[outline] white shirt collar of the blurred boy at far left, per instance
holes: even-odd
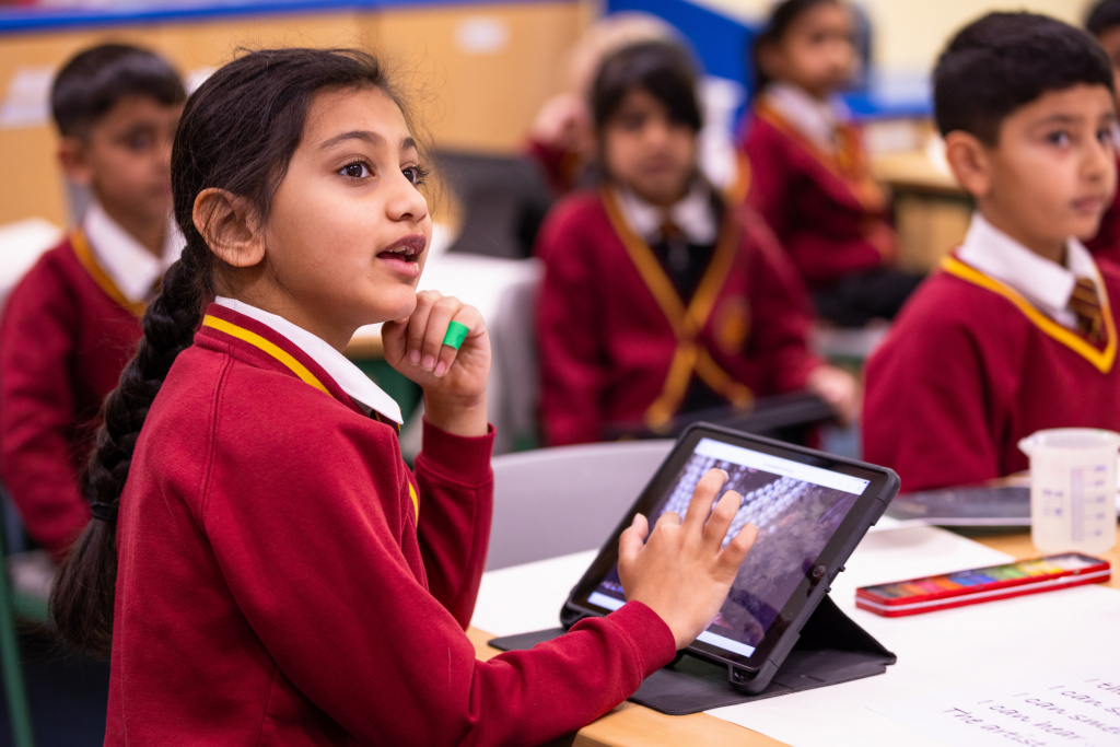
[[[90,203],[82,218],[82,230],[90,241],[90,249],[96,256],[97,264],[124,298],[133,304],[149,300],[152,286],[183,253],[186,239],[179,226],[170,216],[167,225],[164,252],[157,258],[120,223],[109,217],[109,213],[97,200]]]

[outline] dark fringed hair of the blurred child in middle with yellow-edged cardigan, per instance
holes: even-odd
[[[603,130],[631,91],[641,88],[669,110],[672,122],[699,132],[697,72],[689,53],[672,41],[640,41],[607,55],[591,85],[595,129]]]

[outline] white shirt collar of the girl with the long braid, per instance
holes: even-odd
[[[237,314],[256,319],[277,334],[287,338],[292,345],[304,351],[311,360],[323,366],[344,392],[357,402],[366,412],[376,410],[390,420],[403,423],[401,408],[389,394],[362,373],[349,358],[330,347],[321,337],[317,337],[302,327],[298,327],[281,316],[271,314],[244,301],[218,296],[215,304],[233,309]]]

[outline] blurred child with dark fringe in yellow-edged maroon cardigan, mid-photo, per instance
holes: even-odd
[[[552,445],[810,389],[852,414],[857,385],[805,346],[804,289],[762,221],[699,175],[687,54],[608,56],[592,92],[606,179],[538,237],[541,422]]]

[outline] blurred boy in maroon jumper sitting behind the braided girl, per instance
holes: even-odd
[[[186,94],[155,54],[103,45],[52,90],[66,175],[93,192],[82,224],[31,268],[0,323],[0,475],[28,533],[56,558],[90,520],[77,473],[101,402],[174,262],[169,158]]]

